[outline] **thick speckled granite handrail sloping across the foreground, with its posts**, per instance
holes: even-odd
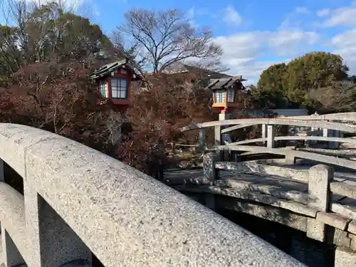
[[[152,177],[65,137],[0,124],[0,157],[23,177],[24,192],[0,183],[6,266],[90,266],[91,253],[110,267],[303,266]]]

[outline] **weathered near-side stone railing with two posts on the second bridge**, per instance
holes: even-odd
[[[243,179],[237,179],[232,183],[234,186],[230,190],[229,187],[226,187],[229,184],[229,182],[226,184],[226,177],[220,179],[218,172],[216,172],[217,169],[257,174],[261,176],[261,180],[259,183],[253,184],[251,182],[246,183]],[[216,152],[210,152],[204,155],[203,171],[204,180],[211,185],[211,188],[206,186],[202,188],[208,189],[208,191],[211,189],[214,194],[261,202],[308,216],[307,224],[297,225],[299,227],[297,229],[305,231],[307,236],[312,239],[326,240],[327,229],[325,225],[343,231],[346,236],[356,234],[355,206],[333,201],[333,194],[339,195],[339,199],[343,199],[343,197],[355,199],[356,187],[347,182],[340,182],[340,179],[334,179],[332,167],[319,164],[311,167],[308,172],[300,172],[288,167],[263,166],[257,164],[257,162],[219,162],[219,155]],[[308,192],[297,192],[288,189],[288,187],[278,189],[276,184],[263,184],[263,177],[268,177],[268,175],[301,181],[303,184],[308,184]],[[227,179],[229,180],[229,178]],[[220,188],[220,185],[223,187]],[[349,236],[346,240],[350,243]],[[351,243],[349,246],[351,246]],[[356,250],[356,246],[352,245],[352,248]]]

